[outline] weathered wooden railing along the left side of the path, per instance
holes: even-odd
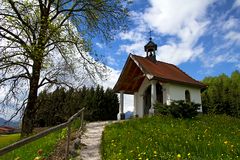
[[[30,142],[33,142],[33,141],[36,141],[37,139],[39,138],[42,138],[52,132],[55,132],[57,130],[60,130],[62,128],[65,128],[67,127],[67,144],[66,144],[66,153],[65,153],[65,159],[68,158],[68,153],[69,153],[69,143],[70,143],[70,134],[71,134],[71,123],[73,122],[73,120],[75,120],[77,117],[79,117],[79,115],[81,114],[81,125],[80,125],[80,128],[79,128],[79,132],[82,130],[83,128],[83,119],[84,119],[84,109],[85,108],[82,108],[81,110],[79,110],[76,114],[74,114],[72,117],[70,117],[68,119],[67,122],[65,123],[62,123],[62,124],[59,124],[57,126],[54,126],[54,127],[51,127],[43,132],[40,132],[36,135],[33,135],[33,136],[30,136],[28,138],[25,138],[25,139],[22,139],[20,141],[17,141],[16,143],[13,143],[13,144],[10,144],[9,146],[6,146],[4,148],[1,148],[0,149],[0,156],[12,151],[12,150],[15,150],[19,147],[22,147]]]

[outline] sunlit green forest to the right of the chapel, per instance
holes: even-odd
[[[206,77],[207,89],[202,92],[203,112],[240,117],[240,73]]]

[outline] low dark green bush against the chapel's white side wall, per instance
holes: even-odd
[[[195,117],[198,112],[200,104],[191,102],[187,103],[184,100],[173,101],[170,105],[155,104],[155,110],[157,114],[172,115],[175,118],[192,118]]]

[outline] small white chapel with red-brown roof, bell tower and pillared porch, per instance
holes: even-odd
[[[118,119],[124,119],[124,94],[134,96],[134,116],[154,114],[154,104],[170,105],[173,100],[201,104],[201,90],[206,86],[177,66],[156,59],[157,44],[152,38],[144,46],[145,57],[129,54],[114,86],[120,93]],[[202,112],[200,107],[199,112]]]

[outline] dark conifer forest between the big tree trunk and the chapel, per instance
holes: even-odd
[[[85,107],[87,121],[115,120],[118,113],[118,97],[112,89],[97,87],[80,89],[57,88],[53,92],[42,91],[38,96],[35,127],[54,126],[67,121]]]

